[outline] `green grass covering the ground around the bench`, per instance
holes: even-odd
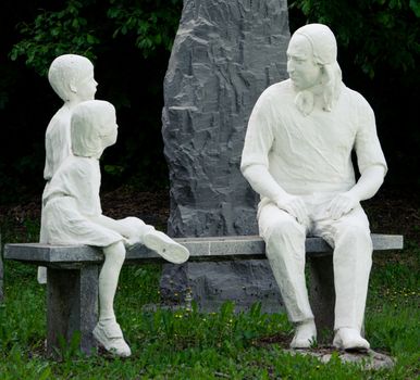
[[[4,228],[4,225],[3,225]],[[36,223],[4,241],[34,241]],[[262,314],[259,304],[235,314],[232,303],[218,313],[143,311],[159,302],[160,267],[125,266],[115,311],[133,356],[86,357],[76,341],[62,347],[62,360],[45,357],[46,290],[36,268],[7,262],[0,306],[0,379],[416,379],[419,377],[420,248],[374,255],[367,305],[367,338],[375,351],[396,358],[393,369],[363,371],[336,355],[328,364],[283,350],[292,333],[284,314]]]

